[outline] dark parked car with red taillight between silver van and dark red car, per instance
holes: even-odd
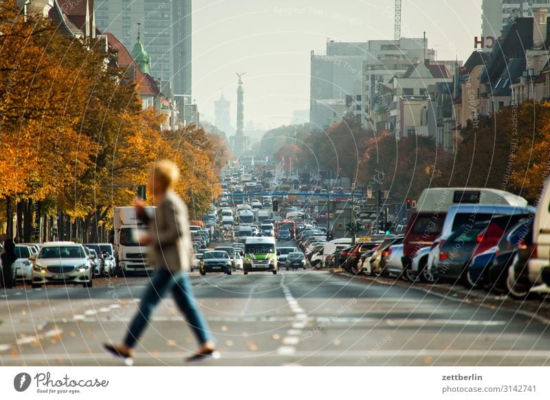
[[[472,285],[470,270],[467,265],[478,245],[478,238],[485,230],[489,221],[477,222],[473,225],[462,225],[440,245],[439,260],[436,261],[434,276],[440,281],[456,282]]]

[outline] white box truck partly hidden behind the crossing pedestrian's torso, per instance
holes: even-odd
[[[153,216],[154,207],[146,207],[145,212]],[[115,228],[114,247],[118,260],[118,272],[122,274],[151,271],[147,264],[147,247],[137,243],[140,231],[146,231],[146,225],[135,215],[133,207],[117,207],[113,210]]]

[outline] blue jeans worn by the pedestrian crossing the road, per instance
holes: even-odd
[[[130,348],[135,345],[149,322],[151,312],[167,291],[172,291],[177,307],[185,315],[199,343],[213,342],[208,324],[195,304],[188,276],[183,271],[172,273],[168,269],[159,269],[142,297],[140,309],[130,324],[124,344]]]

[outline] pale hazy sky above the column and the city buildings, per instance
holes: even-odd
[[[193,97],[213,118],[224,93],[236,120],[244,71],[245,121],[272,128],[309,109],[309,56],[336,41],[393,39],[392,0],[193,1]],[[481,0],[403,0],[401,36],[421,37],[437,59],[465,60],[481,34]]]

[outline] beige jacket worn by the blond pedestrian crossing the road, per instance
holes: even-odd
[[[141,217],[141,216],[140,216]],[[187,206],[172,190],[155,208],[153,218],[147,221],[151,244],[148,247],[149,265],[172,272],[190,271],[192,241]]]

